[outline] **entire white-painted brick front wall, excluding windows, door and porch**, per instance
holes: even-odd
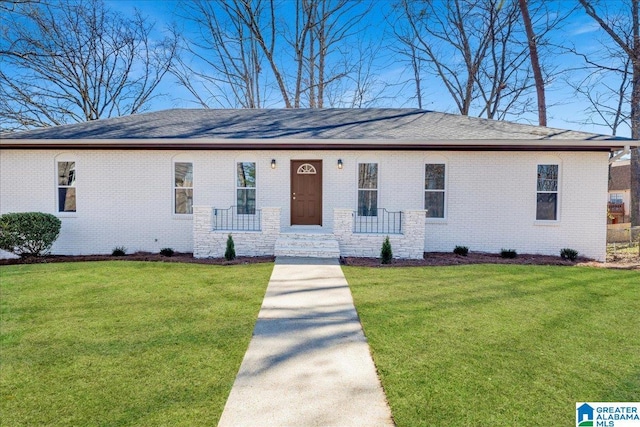
[[[607,153],[2,150],[0,212],[56,213],[61,155],[77,162],[78,212],[60,215],[54,253],[110,253],[116,246],[193,251],[192,216],[173,214],[174,161],[193,162],[194,205],[208,208],[236,204],[235,163],[255,161],[258,206],[281,208],[280,225],[288,227],[290,161],[322,159],[327,232],[334,228],[334,209],[356,207],[357,163],[379,164],[379,207],[408,211],[424,208],[425,162],[446,161],[447,218],[425,221],[425,251],[464,245],[556,255],[571,247],[596,259],[605,255]],[[560,220],[543,225],[535,221],[536,165],[554,161],[561,165]],[[379,255],[378,240],[372,256]]]

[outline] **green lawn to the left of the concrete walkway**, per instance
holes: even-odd
[[[0,267],[0,424],[216,425],[272,268]]]

